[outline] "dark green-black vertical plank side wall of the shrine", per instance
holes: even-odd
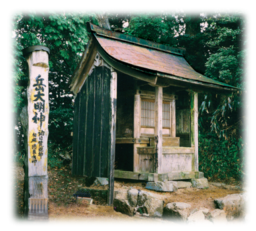
[[[75,98],[74,175],[108,177],[111,155],[111,72],[95,67]]]

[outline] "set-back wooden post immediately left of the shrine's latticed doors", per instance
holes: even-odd
[[[133,137],[140,139],[140,94],[134,95],[134,129]],[[137,153],[137,147],[140,144],[133,145],[133,171],[140,171],[140,157]]]

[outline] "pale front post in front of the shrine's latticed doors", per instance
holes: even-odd
[[[155,137],[157,137],[157,168],[156,173],[162,173],[163,147],[163,87],[155,87]]]

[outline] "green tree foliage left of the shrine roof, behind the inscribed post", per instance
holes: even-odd
[[[22,147],[22,128],[17,122],[22,108],[21,90],[28,85],[28,70],[22,49],[42,45],[50,49],[49,137],[54,149],[72,143],[73,94],[68,83],[89,39],[86,22],[97,24],[93,8],[22,7],[7,11],[7,112],[17,112],[17,149]],[[15,37],[13,37],[13,34]]]

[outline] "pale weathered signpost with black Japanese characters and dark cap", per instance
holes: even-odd
[[[24,160],[24,217],[27,220],[48,220],[48,53],[44,46],[23,50],[29,70],[28,106],[23,110],[27,121]],[[26,107],[25,107],[26,108]]]

